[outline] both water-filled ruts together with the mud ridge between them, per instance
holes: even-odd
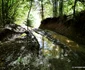
[[[38,31],[38,30],[37,30]],[[39,41],[44,56],[62,58],[70,52],[76,52],[79,45],[65,36],[52,31],[38,31],[34,33]]]

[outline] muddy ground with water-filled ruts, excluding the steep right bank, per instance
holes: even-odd
[[[0,70],[72,70],[85,65],[85,45],[58,33],[19,26],[15,32],[3,30],[1,36],[4,31],[10,35],[0,41]]]

